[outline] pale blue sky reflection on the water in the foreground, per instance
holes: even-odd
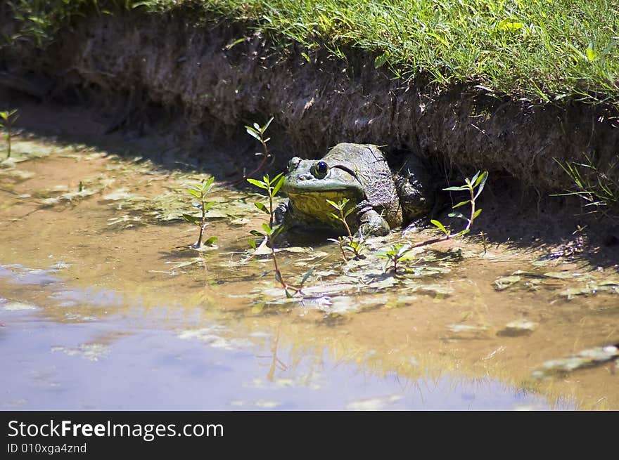
[[[1,306],[0,306],[1,308]],[[3,312],[1,409],[569,409],[492,379],[365,374],[328,353],[122,317],[54,324]],[[118,334],[118,330],[124,330]],[[267,352],[267,353],[265,353]]]

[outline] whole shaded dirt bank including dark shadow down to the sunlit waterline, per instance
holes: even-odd
[[[11,28],[5,19],[3,32]],[[271,116],[272,173],[293,156],[321,157],[339,142],[384,145],[393,163],[417,155],[438,183],[487,170],[476,223],[491,242],[563,244],[572,248],[566,254],[596,253],[606,261],[596,263],[617,260],[616,218],[585,215],[577,197],[551,196],[573,188],[557,160],[587,155],[601,171],[617,161],[613,109],[577,101],[532,106],[475,84],[438,88],[394,79],[355,48],[346,55],[318,51],[308,62],[295,45],[275,48],[246,24],[193,25],[182,12],[91,15],[45,51],[27,41],[0,48],[0,85],[11,91],[3,106],[20,108],[13,101],[27,93],[32,107],[34,100],[42,107],[88,107],[98,124],[84,125],[83,140],[148,138],[158,152],[197,159],[188,162],[218,180],[234,182],[243,167],[258,164],[259,146],[243,126]],[[60,133],[34,119],[23,117],[18,126]],[[79,127],[74,131],[79,137]]]

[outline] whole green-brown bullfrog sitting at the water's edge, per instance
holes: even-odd
[[[326,202],[349,200],[346,209],[351,232],[363,236],[387,235],[411,219],[428,214],[423,179],[426,171],[414,160],[393,173],[383,152],[370,144],[340,143],[318,160],[294,157],[281,187],[288,202],[276,210],[276,221],[286,228],[300,226],[346,231]]]

